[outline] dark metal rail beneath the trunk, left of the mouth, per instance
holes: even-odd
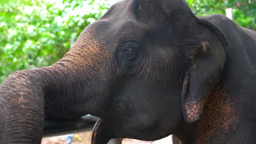
[[[91,131],[97,122],[97,117],[84,116],[78,119],[45,120],[43,137],[52,137],[83,131]]]

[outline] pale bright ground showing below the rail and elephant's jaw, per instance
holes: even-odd
[[[42,140],[42,144],[66,144],[65,136],[56,136],[45,138]],[[90,144],[91,143],[91,131],[74,134],[73,135],[72,144]],[[123,139],[122,144],[172,144],[171,136],[168,136],[164,139],[158,141],[139,141],[139,140],[131,140],[131,139]]]

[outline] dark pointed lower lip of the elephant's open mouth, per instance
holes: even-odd
[[[106,144],[113,138],[111,134],[113,131],[109,129],[108,125],[102,119],[98,119],[97,123],[92,130],[92,144]]]

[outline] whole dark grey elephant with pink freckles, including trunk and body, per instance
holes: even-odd
[[[254,143],[255,96],[255,31],[183,0],[124,0],[55,64],[3,81],[0,143],[40,143],[45,119],[87,114],[93,144]]]

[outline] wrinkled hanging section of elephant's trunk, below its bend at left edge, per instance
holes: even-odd
[[[44,90],[34,70],[9,75],[0,87],[0,143],[40,143]]]

